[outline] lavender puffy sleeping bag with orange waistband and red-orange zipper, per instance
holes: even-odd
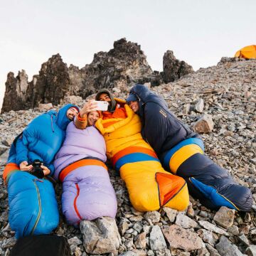
[[[95,127],[77,129],[73,122],[68,124],[65,142],[55,156],[54,177],[63,181],[63,214],[72,225],[102,216],[114,218],[117,213],[105,153],[105,140]]]

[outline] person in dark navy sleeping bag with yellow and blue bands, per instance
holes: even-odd
[[[174,117],[162,97],[145,85],[134,85],[127,104],[142,119],[142,136],[156,151],[164,168],[185,178],[191,196],[210,209],[251,209],[250,189],[235,183],[228,171],[203,154],[202,139]]]

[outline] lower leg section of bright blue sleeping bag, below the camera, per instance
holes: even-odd
[[[57,228],[58,204],[50,181],[13,171],[7,182],[9,223],[16,238],[49,234]]]

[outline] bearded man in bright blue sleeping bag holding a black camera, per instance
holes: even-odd
[[[3,176],[9,196],[9,223],[17,238],[48,234],[58,226],[55,191],[44,176],[53,174],[54,156],[78,110],[69,104],[58,112],[41,114],[11,145]],[[32,165],[35,160],[38,160],[37,173]]]

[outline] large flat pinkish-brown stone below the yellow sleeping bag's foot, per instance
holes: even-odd
[[[163,228],[162,231],[164,233],[164,237],[172,248],[191,251],[198,250],[203,247],[203,241],[196,233],[181,228],[178,225],[171,225]]]

